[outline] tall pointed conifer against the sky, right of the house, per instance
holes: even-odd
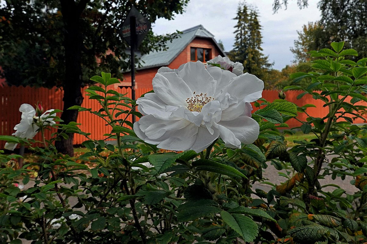
[[[234,62],[243,63],[244,72],[254,74],[264,79],[266,71],[272,66],[268,56],[262,53],[261,25],[258,21],[258,11],[246,5],[239,4],[237,8],[235,26],[235,47],[229,53],[229,58]]]

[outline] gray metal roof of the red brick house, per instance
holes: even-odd
[[[219,47],[217,41],[214,39],[214,35],[211,34],[208,30],[206,30],[202,25],[197,25],[191,27],[187,30],[183,30],[182,34],[172,40],[172,42],[168,41],[166,43],[167,50],[166,51],[153,51],[148,54],[141,56],[140,64],[137,70],[143,70],[158,66],[167,66],[172,63],[172,61],[190,44],[192,40],[196,37],[203,37],[211,39],[218,50],[221,52],[222,56],[226,56],[225,52]]]

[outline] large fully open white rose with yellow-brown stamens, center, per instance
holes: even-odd
[[[221,137],[230,148],[251,144],[259,124],[250,102],[261,97],[264,82],[255,75],[236,74],[200,61],[177,70],[162,67],[153,78],[155,93],[137,100],[144,115],[134,123],[139,138],[158,148],[201,152]]]

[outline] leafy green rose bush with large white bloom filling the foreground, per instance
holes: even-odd
[[[299,88],[297,81],[305,77],[312,80],[299,97],[323,100],[329,113],[306,121],[297,115],[307,115],[312,104],[255,101],[262,81],[216,66],[162,68],[154,93],[137,102],[108,89],[119,82],[110,74],[92,77],[96,85],[87,89],[88,96],[101,109],[70,109],[101,117],[111,127],[106,138],[116,145],[92,140],[76,123],[51,125],[60,131],[45,138],[43,148],[33,139],[0,136],[37,155],[19,169],[19,155],[0,152],[0,243],[363,243],[367,128],[352,123],[353,117],[364,118],[367,108],[360,104],[367,101],[367,59],[346,59],[356,52],[342,50],[342,42],[332,47],[313,52],[320,58],[313,62],[315,71],[292,75],[294,86],[285,88]],[[252,114],[251,101],[258,107]],[[128,121],[132,114],[141,117],[135,125]],[[284,130],[291,118],[302,126]],[[41,132],[46,129],[39,125]],[[297,129],[316,138],[288,148],[284,134]],[[89,151],[78,158],[58,154],[53,142],[64,132],[85,136]],[[337,156],[328,160],[330,155]],[[86,159],[96,166],[76,163]],[[264,178],[266,167],[283,170],[287,181],[275,185],[273,175]],[[330,175],[354,177],[356,192],[322,186],[319,179]],[[254,189],[261,184],[271,189]]]

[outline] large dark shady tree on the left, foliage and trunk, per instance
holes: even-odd
[[[81,87],[101,71],[122,78],[130,52],[119,30],[131,6],[150,22],[171,19],[188,0],[6,0],[0,5],[0,66],[8,84],[62,87],[64,123],[76,121]],[[175,37],[149,32],[139,51],[164,49]],[[60,152],[73,155],[73,134],[58,141]]]

